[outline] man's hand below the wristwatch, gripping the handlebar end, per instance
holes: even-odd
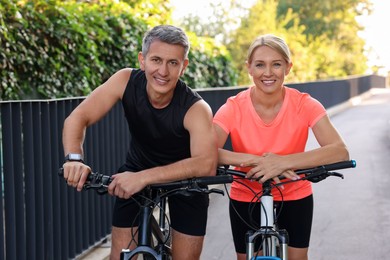
[[[69,161],[63,164],[64,179],[69,186],[72,186],[81,191],[88,175],[91,173],[91,168],[82,162]]]

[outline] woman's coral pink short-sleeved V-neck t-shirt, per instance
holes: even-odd
[[[309,128],[326,115],[326,110],[309,94],[289,87],[284,88],[286,91],[282,107],[269,124],[265,124],[256,113],[250,98],[251,88],[228,98],[220,107],[214,116],[214,123],[230,134],[233,151],[257,155],[266,152],[286,155],[305,150]],[[231,197],[238,201],[253,201],[254,193],[261,192],[261,184],[243,181],[252,190],[233,182]],[[272,194],[276,201],[297,200],[312,194],[312,187],[308,181],[299,181],[285,184],[280,191],[273,189]]]

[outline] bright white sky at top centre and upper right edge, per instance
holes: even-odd
[[[229,2],[230,0],[171,0],[174,6],[173,18],[185,16],[189,13],[199,16],[211,13],[210,2]],[[245,0],[246,3],[253,3],[254,0]],[[366,48],[369,51],[368,65],[383,66],[380,74],[387,75],[390,71],[390,1],[371,0],[373,12],[369,16],[359,17],[358,21],[365,27],[360,36],[366,40]]]

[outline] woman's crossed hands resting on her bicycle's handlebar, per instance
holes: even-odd
[[[279,183],[278,176],[280,175],[292,180],[299,179],[299,176],[294,171],[283,168],[282,158],[282,156],[277,154],[265,153],[262,156],[256,156],[242,163],[240,166],[251,167],[247,172],[247,178],[257,179],[260,182],[273,179]]]

